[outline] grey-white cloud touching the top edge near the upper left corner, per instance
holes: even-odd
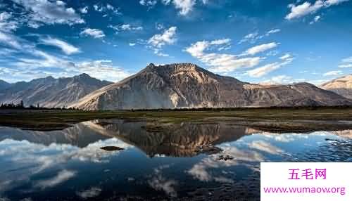
[[[25,15],[31,27],[39,27],[43,24],[82,24],[84,20],[73,8],[67,8],[63,1],[49,0],[12,0],[23,6],[27,12]]]

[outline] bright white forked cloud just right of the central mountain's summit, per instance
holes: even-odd
[[[210,70],[214,72],[232,72],[240,67],[253,67],[258,65],[261,58],[237,58],[237,56],[225,53],[206,53],[205,51],[211,50],[214,47],[221,50],[222,46],[229,46],[230,39],[220,39],[214,41],[198,41],[195,44],[191,44],[185,49],[191,56],[198,58],[201,62],[210,66]]]

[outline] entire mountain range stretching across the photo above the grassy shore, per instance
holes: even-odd
[[[191,63],[151,63],[117,83],[88,74],[0,82],[0,103],[23,100],[25,105],[82,110],[352,105],[351,80],[352,76],[334,79],[323,89],[306,82],[264,86],[213,74]]]

